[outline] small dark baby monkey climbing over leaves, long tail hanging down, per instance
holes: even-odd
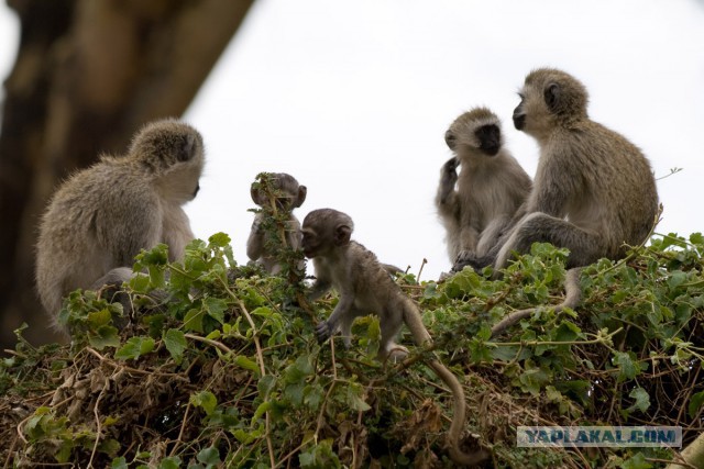
[[[328,339],[340,328],[349,347],[354,319],[376,313],[382,331],[380,358],[402,359],[408,350],[397,345],[394,338],[404,324],[410,330],[417,345],[432,339],[416,304],[400,291],[376,256],[350,239],[353,228],[349,215],[332,209],[315,210],[304,220],[302,249],[306,257],[312,259],[317,277],[310,299],[319,298],[330,287],[334,287],[340,294],[328,321],[316,328],[318,340]],[[481,449],[466,454],[459,447],[466,406],[462,386],[440,361],[431,360],[430,366],[454,398],[454,415],[448,433],[450,456],[458,464],[476,465],[487,454]]]

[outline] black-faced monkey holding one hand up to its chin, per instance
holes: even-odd
[[[450,260],[455,263],[494,247],[528,197],[531,181],[504,147],[501,121],[486,108],[455,119],[444,141],[454,157],[440,171],[436,206],[447,231]]]

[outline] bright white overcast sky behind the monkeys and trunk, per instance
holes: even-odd
[[[0,12],[0,72],[16,25]],[[14,34],[11,36],[10,32]],[[330,206],[386,263],[435,279],[450,260],[433,197],[450,157],[443,135],[484,104],[529,175],[537,146],[514,130],[530,69],[581,79],[591,116],[644,149],[664,220],[658,232],[704,231],[704,2],[695,0],[258,0],[186,114],[208,163],[187,206],[194,231],[223,231],[245,263],[260,171],[308,187],[297,210]]]

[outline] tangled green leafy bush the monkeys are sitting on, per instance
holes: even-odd
[[[128,301],[69,295],[68,346],[33,348],[18,331],[0,365],[0,460],[14,467],[451,467],[451,395],[410,344],[375,360],[378,322],[354,346],[319,345],[302,283],[238,266],[230,239],[195,241],[183,263],[143,252]],[[654,236],[627,260],[581,276],[582,304],[556,313],[566,252],[535,245],[502,280],[470,269],[444,282],[397,278],[420,304],[435,353],[468,397],[465,449],[496,467],[658,467],[669,449],[517,448],[518,425],[681,425],[704,411],[700,234]],[[131,304],[123,312],[122,304]],[[491,337],[505,314],[536,313]],[[416,353],[413,353],[416,350]]]

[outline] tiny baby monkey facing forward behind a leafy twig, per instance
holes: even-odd
[[[254,223],[252,223],[250,237],[246,242],[246,255],[253,261],[261,264],[267,272],[277,275],[280,273],[282,266],[276,254],[277,249],[283,247],[283,241],[274,238],[272,232],[267,233],[263,222],[267,216],[273,216],[273,205],[277,211],[286,213],[288,215],[285,230],[286,245],[290,249],[300,248],[300,223],[294,215],[294,209],[305,202],[308,189],[306,186],[299,185],[296,178],[284,172],[264,174],[263,176],[262,182],[252,183],[250,190],[252,200],[263,210],[254,216]],[[266,181],[271,181],[273,185],[271,188],[273,190],[270,192],[273,194],[271,200],[266,191],[260,187]],[[305,264],[299,267],[304,270]]]

